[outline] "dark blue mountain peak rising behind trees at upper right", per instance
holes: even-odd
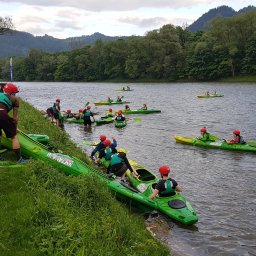
[[[232,17],[241,13],[255,10],[255,9],[256,7],[250,5],[236,12],[231,7],[223,5],[223,6],[211,9],[207,13],[203,14],[199,19],[197,19],[194,23],[188,26],[188,30],[190,31],[205,30],[207,29],[207,26],[210,23],[210,21],[217,16]]]

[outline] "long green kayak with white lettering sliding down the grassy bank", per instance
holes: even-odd
[[[113,177],[108,178],[100,170],[93,168],[80,159],[61,153],[54,153],[45,145],[31,139],[22,131],[18,131],[17,136],[21,145],[22,156],[46,161],[48,164],[51,164],[53,167],[68,175],[79,176],[95,174],[100,180],[105,182],[111,192],[114,193],[117,198],[122,199],[122,201],[125,199],[129,204],[134,205],[147,213],[156,209],[163,213],[166,212],[166,209],[162,209],[163,206],[161,204],[149,199],[143,193],[128,187],[126,184]],[[12,148],[11,139],[6,138],[4,133],[2,136],[2,145],[8,149]],[[169,215],[167,214],[167,216]]]

